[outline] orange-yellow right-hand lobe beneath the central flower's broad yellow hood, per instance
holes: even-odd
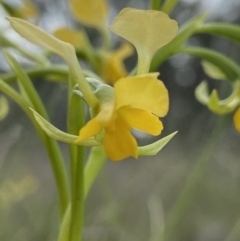
[[[162,122],[158,117],[148,111],[132,107],[123,107],[118,110],[118,113],[132,128],[151,135],[157,136],[163,129]]]

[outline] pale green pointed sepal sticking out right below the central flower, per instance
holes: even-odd
[[[154,156],[177,134],[177,131],[147,146],[138,147],[139,156]]]

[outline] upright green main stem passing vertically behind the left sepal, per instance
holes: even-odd
[[[77,135],[85,124],[84,102],[73,94],[74,81],[69,79],[68,90],[68,132]],[[84,157],[85,147],[69,145],[71,158],[71,216],[69,241],[82,240],[84,217]]]

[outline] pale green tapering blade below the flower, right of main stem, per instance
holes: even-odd
[[[88,192],[92,187],[97,175],[102,170],[107,157],[102,146],[92,147],[88,162],[84,170],[85,185],[84,185],[84,198],[87,198]]]

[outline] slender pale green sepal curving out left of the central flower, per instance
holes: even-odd
[[[63,132],[59,130],[57,127],[53,126],[51,123],[49,123],[46,119],[44,119],[41,115],[39,115],[36,111],[34,111],[32,108],[30,108],[33,112],[33,115],[40,125],[40,127],[45,131],[45,133],[50,136],[51,138],[57,140],[57,141],[63,141],[66,143],[75,143],[76,145],[82,145],[82,146],[99,146],[100,143],[97,142],[94,138],[89,138],[88,140],[81,141],[76,143],[76,139],[78,136],[71,135],[66,132]]]

